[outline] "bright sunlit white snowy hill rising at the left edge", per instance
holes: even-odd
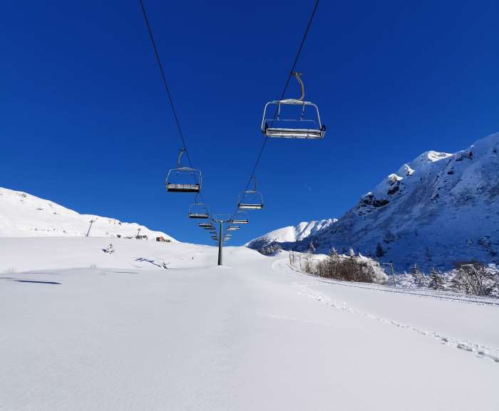
[[[148,239],[163,236],[176,241],[168,234],[152,231],[140,224],[79,214],[49,200],[0,187],[1,237],[85,236],[91,220],[90,236],[136,236],[140,229],[140,235],[146,235]]]

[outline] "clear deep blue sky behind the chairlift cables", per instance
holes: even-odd
[[[230,211],[313,1],[145,5],[205,199]],[[421,152],[499,131],[498,12],[497,1],[321,1],[297,68],[326,137],[269,140],[264,209],[232,244],[341,217]],[[0,25],[0,186],[209,243],[187,219],[193,196],[165,192],[180,142],[138,1],[9,2]]]

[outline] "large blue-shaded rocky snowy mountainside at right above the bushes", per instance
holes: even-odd
[[[499,262],[499,133],[455,154],[424,152],[335,224],[282,246],[306,251],[311,242],[319,252],[351,247],[398,270]]]

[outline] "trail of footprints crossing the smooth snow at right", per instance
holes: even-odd
[[[335,301],[332,301],[331,298],[328,296],[324,296],[324,294],[319,293],[319,291],[315,291],[312,288],[309,288],[305,286],[304,284],[300,283],[292,283],[292,286],[299,288],[298,294],[302,296],[307,296],[309,298],[312,298],[316,301],[321,301],[328,306],[334,307],[340,311],[344,311],[347,313],[354,313],[360,316],[364,316],[366,318],[371,318],[371,320],[376,320],[379,321],[380,323],[384,324],[390,324],[391,326],[396,326],[398,328],[403,328],[406,330],[413,331],[415,333],[418,333],[420,335],[427,335],[430,337],[435,338],[438,340],[440,343],[444,345],[448,345],[453,348],[458,348],[459,350],[467,351],[468,353],[474,353],[477,357],[479,358],[488,358],[489,360],[493,360],[495,363],[499,363],[499,349],[498,348],[491,348],[487,347],[485,345],[479,345],[477,343],[470,343],[469,341],[458,341],[458,340],[453,340],[451,338],[448,338],[446,336],[440,335],[439,333],[436,332],[428,332],[421,330],[420,328],[416,328],[413,326],[408,326],[406,324],[401,324],[397,323],[396,321],[389,320],[387,318],[382,318],[375,316],[374,314],[371,313],[363,313],[362,311],[356,310],[354,308],[351,308],[346,305],[346,303],[336,303]]]

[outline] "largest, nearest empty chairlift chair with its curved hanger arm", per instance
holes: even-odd
[[[293,76],[298,80],[301,95],[299,98],[269,101],[263,110],[262,132],[267,137],[321,139],[326,134],[326,126],[321,124],[319,108],[303,100],[302,73],[293,72]]]

